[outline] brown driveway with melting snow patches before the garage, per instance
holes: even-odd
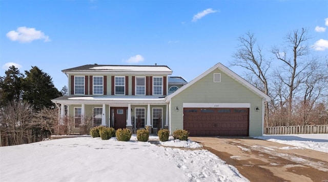
[[[328,154],[251,137],[190,137],[250,181],[328,181]]]

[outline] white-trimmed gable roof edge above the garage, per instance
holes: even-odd
[[[208,69],[207,71],[205,71],[202,74],[200,74],[199,76],[197,76],[195,79],[191,80],[191,82],[189,82],[187,85],[181,87],[180,89],[178,89],[174,93],[168,95],[166,97],[166,100],[167,101],[171,100],[172,97],[174,97],[175,95],[179,94],[183,90],[186,90],[188,87],[190,87],[191,85],[193,85],[194,83],[196,83],[199,79],[201,79],[202,77],[208,75],[209,73],[211,73],[215,69],[219,69],[222,72],[226,73],[227,75],[229,75],[230,77],[232,77],[233,79],[235,79],[237,82],[239,82],[240,84],[244,85],[245,87],[247,87],[248,89],[250,89],[251,91],[253,91],[254,93],[256,93],[257,95],[259,95],[260,97],[262,97],[264,99],[264,101],[268,102],[268,101],[271,100],[271,97],[269,97],[267,94],[264,94],[261,90],[259,90],[258,88],[256,88],[255,86],[253,86],[252,84],[250,84],[249,82],[247,82],[245,79],[243,79],[238,74],[236,74],[235,72],[231,71],[229,68],[227,68],[226,66],[222,65],[221,63],[217,63],[212,68]]]

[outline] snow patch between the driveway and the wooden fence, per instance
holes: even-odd
[[[254,138],[328,153],[328,134],[263,135]],[[282,149],[295,148],[285,147]]]

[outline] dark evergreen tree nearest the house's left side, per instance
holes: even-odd
[[[62,94],[54,87],[52,78],[36,66],[25,71],[25,74],[23,100],[32,104],[36,110],[54,106],[51,99]]]

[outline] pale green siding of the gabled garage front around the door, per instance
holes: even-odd
[[[221,82],[213,82],[213,74],[221,73]],[[214,70],[171,99],[171,131],[183,128],[183,103],[250,103],[250,136],[262,135],[262,98],[235,79]],[[179,111],[175,111],[178,107]],[[259,111],[255,111],[259,107]]]

